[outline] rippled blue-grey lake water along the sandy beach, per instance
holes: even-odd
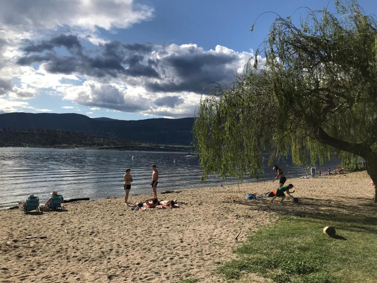
[[[0,206],[14,205],[29,194],[45,201],[51,191],[58,191],[67,199],[121,196],[124,195],[126,168],[131,168],[133,176],[130,194],[152,194],[149,183],[153,163],[159,171],[158,192],[224,184],[224,180],[216,176],[201,183],[198,159],[183,156],[175,152],[0,148]],[[334,158],[317,168],[335,168],[339,163],[340,159]],[[279,164],[287,178],[306,175],[305,166],[291,164],[291,160]],[[264,169],[259,180],[273,180],[276,171],[267,166],[267,160]],[[244,181],[256,180],[246,178]],[[276,185],[279,184],[271,183],[271,189]]]

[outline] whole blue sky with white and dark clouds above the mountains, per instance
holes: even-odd
[[[335,11],[322,0],[0,0],[0,114],[194,117],[211,82],[242,74],[276,14],[298,23],[326,6]]]

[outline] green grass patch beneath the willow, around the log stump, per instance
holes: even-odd
[[[251,235],[217,271],[227,279],[252,272],[276,282],[375,282],[377,278],[377,207],[368,215],[281,217]],[[336,227],[337,238],[323,234]]]

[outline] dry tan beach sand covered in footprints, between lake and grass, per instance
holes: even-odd
[[[278,185],[266,181],[158,194],[161,199],[177,198],[179,208],[173,209],[131,211],[124,198],[110,198],[66,203],[63,212],[0,211],[0,281],[224,281],[214,272],[216,262],[235,258],[232,249],[251,231],[282,214],[363,213],[368,207],[360,204],[373,195],[373,188],[366,186],[369,181],[366,172],[288,178],[300,198],[297,205],[289,197],[284,205],[279,199],[274,204],[271,198],[246,200],[248,193],[261,194]],[[129,201],[147,197],[130,196]],[[47,238],[13,241],[36,235]],[[255,275],[248,280],[270,281]]]

